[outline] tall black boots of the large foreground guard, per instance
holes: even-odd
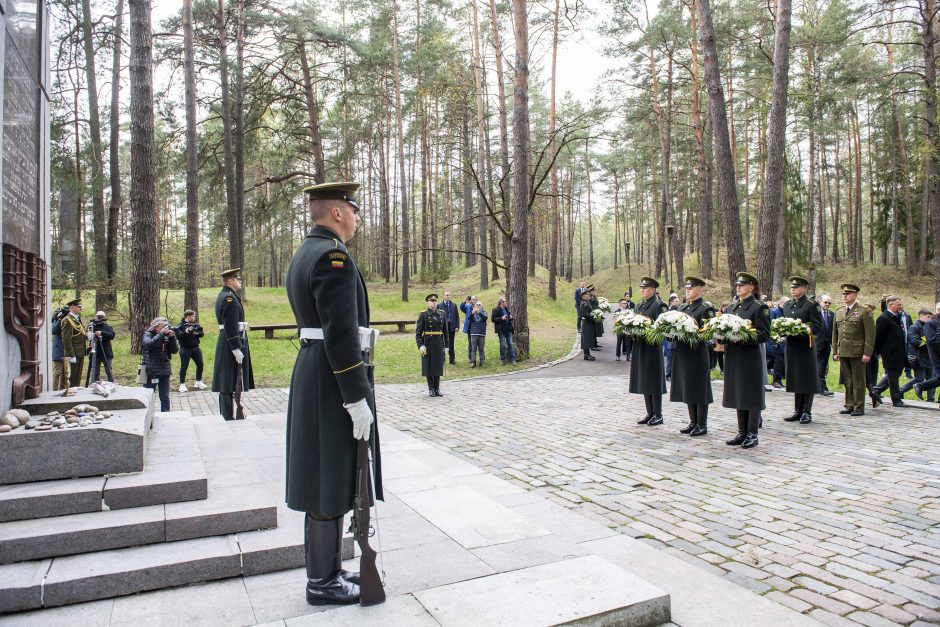
[[[307,603],[358,603],[359,585],[345,577],[342,569],[342,517],[334,520],[315,520],[308,514],[305,522]]]

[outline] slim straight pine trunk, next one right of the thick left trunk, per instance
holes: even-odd
[[[196,61],[193,40],[193,0],[183,0],[183,58],[186,98],[186,284],[183,306],[186,309],[198,311],[199,156],[196,145]]]

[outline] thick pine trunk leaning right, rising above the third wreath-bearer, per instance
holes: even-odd
[[[767,145],[767,178],[764,210],[757,248],[757,279],[772,294],[778,239],[782,240],[784,150],[787,132],[787,89],[790,70],[790,0],[777,0],[774,34],[773,95],[770,101],[770,139]]]

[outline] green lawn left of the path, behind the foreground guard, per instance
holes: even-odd
[[[424,309],[424,297],[428,292],[442,294],[446,287],[453,293],[453,300],[458,304],[467,294],[474,294],[484,303],[487,311],[496,305],[499,296],[505,294],[505,279],[492,281],[490,288],[480,291],[474,286],[479,285],[479,269],[470,268],[455,273],[443,285],[412,284],[410,301],[401,301],[400,284],[371,283],[369,289],[369,305],[373,320],[406,320],[417,319],[418,313]],[[568,354],[575,336],[575,316],[573,307],[574,286],[564,281],[558,284],[558,300],[553,301],[546,295],[548,293],[548,275],[543,268],[539,268],[535,278],[529,279],[529,327],[530,327],[530,357],[527,361],[513,366],[502,366],[499,363],[499,340],[493,330],[493,324],[487,324],[486,338],[486,365],[470,368],[467,361],[467,336],[457,333],[456,360],[457,365],[447,366],[445,380],[484,376],[513,369],[522,369],[546,363]],[[218,294],[216,288],[199,290],[200,321],[206,330],[202,340],[203,357],[205,358],[205,371],[203,381],[208,385],[212,381],[213,357],[215,343],[218,337],[218,327],[215,323],[214,305]],[[287,302],[287,293],[284,288],[249,287],[247,290],[245,313],[249,325],[293,323],[294,316]],[[72,298],[72,292],[67,290],[53,290],[53,305],[64,303]],[[94,315],[94,293],[83,293],[86,311],[83,319],[87,322]],[[177,324],[182,318],[183,292],[181,290],[164,290],[161,293],[160,314]],[[512,309],[512,303],[510,303]],[[122,384],[131,385],[137,372],[139,357],[130,354],[130,336],[127,328],[128,319],[127,295],[119,297],[117,310],[108,315],[108,322],[114,326],[117,337],[112,342],[114,349],[114,375]],[[463,321],[463,314],[461,314]],[[408,333],[397,333],[391,330],[394,327],[379,327],[382,336],[376,350],[376,380],[378,383],[416,383],[423,382],[421,376],[421,357],[415,342],[414,327]],[[275,338],[265,339],[262,332],[250,332],[249,342],[251,359],[255,375],[255,385],[258,387],[286,387],[290,384],[290,376],[297,354],[297,342],[292,341],[292,331],[278,331]],[[87,367],[87,362],[86,362]],[[176,372],[179,368],[179,358],[173,360],[175,383]],[[193,380],[195,367],[190,364],[187,379]]]

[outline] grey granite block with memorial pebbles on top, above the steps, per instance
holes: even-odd
[[[153,420],[153,393],[120,388],[108,398],[46,392],[21,407],[34,416],[88,403],[114,415],[98,425],[51,431],[14,429],[0,435],[0,485],[140,472]]]

